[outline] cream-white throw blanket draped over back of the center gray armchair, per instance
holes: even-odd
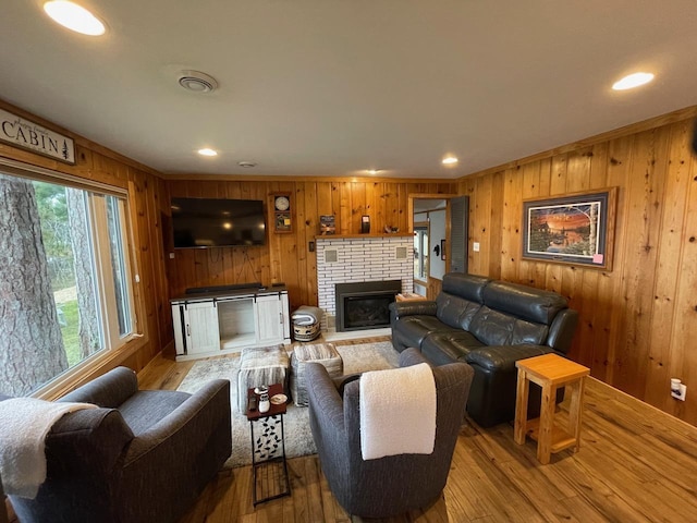
[[[426,363],[360,376],[364,460],[430,454],[436,442],[436,381]]]

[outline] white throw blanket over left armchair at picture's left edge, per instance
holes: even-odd
[[[34,499],[46,481],[46,435],[64,414],[96,408],[35,398],[0,401],[0,477],[5,494]]]

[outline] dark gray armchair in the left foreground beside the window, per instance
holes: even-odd
[[[10,496],[22,523],[174,522],[230,455],[230,382],[194,394],[138,390],[119,367],[59,401],[94,403],[46,438],[36,499]]]

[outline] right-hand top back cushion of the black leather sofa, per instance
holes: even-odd
[[[555,292],[505,281],[492,281],[484,290],[484,303],[490,308],[512,314],[518,318],[549,325],[566,300]]]

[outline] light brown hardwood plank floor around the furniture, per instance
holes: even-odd
[[[355,340],[366,341],[378,339]],[[155,360],[139,375],[142,387],[175,389],[193,364]],[[553,454],[548,465],[537,462],[535,442],[513,441],[512,425],[484,429],[468,421],[442,496],[384,521],[697,521],[697,428],[594,378],[584,405],[580,451]],[[565,413],[562,404],[558,416]],[[316,455],[289,460],[289,471],[292,496],[256,509],[250,466],[222,471],[181,523],[351,521]]]

